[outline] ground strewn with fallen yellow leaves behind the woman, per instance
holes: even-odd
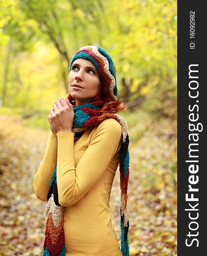
[[[177,255],[176,132],[175,120],[152,119],[129,143],[130,256]],[[0,116],[0,256],[42,255],[46,203],[36,198],[33,180],[48,135]],[[110,205],[120,242],[119,201],[117,169]]]

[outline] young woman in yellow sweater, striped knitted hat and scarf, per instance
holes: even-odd
[[[47,201],[43,255],[129,256],[129,136],[116,69],[100,47],[80,48],[69,65],[69,93],[52,105],[46,152],[34,180]],[[121,250],[109,205],[120,165]]]

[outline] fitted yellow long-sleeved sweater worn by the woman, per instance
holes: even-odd
[[[72,132],[49,133],[34,190],[37,198],[47,201],[57,163],[66,256],[122,256],[109,205],[120,161],[121,132],[119,122],[109,118],[75,140]]]

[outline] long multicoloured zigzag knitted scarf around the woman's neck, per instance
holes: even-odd
[[[128,207],[127,207],[127,187],[129,180],[129,136],[127,133],[127,124],[123,117],[115,113],[101,113],[103,101],[85,103],[80,106],[74,106],[74,125],[72,132],[74,138],[80,137],[89,127],[99,125],[106,118],[116,119],[122,127],[121,157],[119,163],[120,171],[120,227],[121,227],[121,252],[123,256],[129,256],[129,242],[127,233],[129,230]],[[64,237],[64,218],[63,210],[58,201],[57,186],[57,165],[50,181],[50,189],[47,195],[46,205],[46,228],[45,241],[43,245],[43,256],[64,256],[65,255],[65,237]]]

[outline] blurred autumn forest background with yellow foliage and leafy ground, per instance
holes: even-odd
[[[33,190],[47,116],[68,93],[83,46],[106,49],[129,128],[130,256],[177,255],[177,1],[0,0],[0,255],[39,256],[44,208]],[[120,242],[119,170],[112,223]]]

